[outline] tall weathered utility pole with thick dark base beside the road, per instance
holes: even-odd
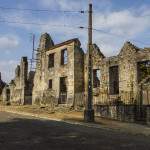
[[[86,106],[84,110],[84,120],[86,122],[94,122],[94,109],[92,107],[92,99],[93,99],[93,69],[92,69],[92,3],[89,4],[89,21],[88,21],[88,52],[87,52],[87,73],[88,73],[88,93]]]

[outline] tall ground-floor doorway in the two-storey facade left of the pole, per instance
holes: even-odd
[[[59,104],[65,104],[66,101],[67,101],[67,77],[61,77]]]

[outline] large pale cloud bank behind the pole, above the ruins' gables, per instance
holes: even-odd
[[[142,10],[142,12],[141,12]],[[137,37],[149,29],[150,19],[149,17],[142,17],[143,14],[147,13],[148,10],[139,9],[137,10],[121,10],[121,11],[110,11],[110,12],[97,12],[94,14],[94,25],[93,28],[99,29],[99,31],[94,31],[93,42],[98,44],[106,56],[116,55],[123,43],[127,40],[136,41]],[[140,14],[141,17],[137,16]],[[51,24],[62,24],[63,18],[54,18],[53,22],[51,20],[47,21],[47,26],[41,27],[41,31],[50,31],[54,36],[60,34],[60,38],[65,40],[65,38],[79,37],[83,48],[86,50],[87,44],[87,30],[79,30],[76,28],[52,28]],[[67,18],[65,24],[69,26],[87,26],[87,19],[85,16],[73,18]],[[58,38],[58,37],[57,37]],[[138,43],[138,40],[137,40]],[[136,44],[137,44],[136,43]],[[139,43],[138,43],[139,44]],[[140,43],[141,44],[141,43]]]

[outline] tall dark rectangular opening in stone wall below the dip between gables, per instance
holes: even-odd
[[[109,68],[109,92],[111,95],[119,94],[118,66],[112,66]]]

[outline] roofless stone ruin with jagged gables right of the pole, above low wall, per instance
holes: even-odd
[[[150,104],[148,90],[150,75],[150,48],[140,49],[126,42],[117,56],[105,57],[93,46],[93,94],[94,104],[110,104],[120,101],[135,104]],[[147,82],[146,95],[140,97],[140,84]],[[145,83],[146,84],[146,83]],[[142,91],[144,93],[144,91]]]

